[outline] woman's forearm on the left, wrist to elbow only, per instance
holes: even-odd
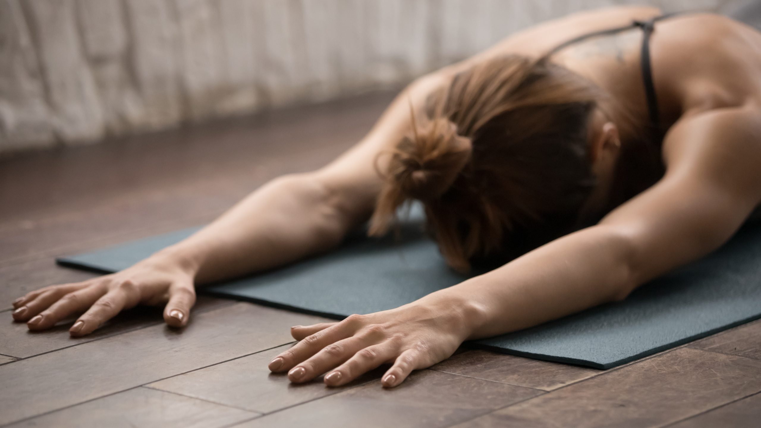
[[[317,174],[279,177],[155,257],[168,257],[210,283],[326,251],[345,224]]]

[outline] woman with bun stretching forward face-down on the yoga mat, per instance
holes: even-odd
[[[452,267],[504,264],[390,311],[292,327],[301,342],[269,369],[335,386],[392,363],[393,387],[463,340],[624,299],[718,248],[761,201],[761,35],[659,15],[574,14],[419,78],[333,163],[273,180],[127,270],[30,292],[13,316],[43,330],[84,312],[81,336],[168,299],[164,320],[181,327],[194,283],[327,251],[367,219],[382,234],[412,199]]]

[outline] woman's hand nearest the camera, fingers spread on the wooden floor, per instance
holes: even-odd
[[[288,370],[291,382],[298,383],[327,372],[326,385],[339,386],[393,363],[381,384],[399,385],[412,370],[447,359],[470,336],[466,311],[431,296],[340,322],[291,327],[291,335],[301,341],[272,359],[269,369]]]

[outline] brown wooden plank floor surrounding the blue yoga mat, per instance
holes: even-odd
[[[333,158],[389,100],[0,160],[0,425],[761,426],[761,322],[607,371],[461,350],[384,390],[380,372],[342,388],[270,374],[288,327],[320,318],[249,303],[202,297],[184,331],[135,309],[80,339],[11,321],[12,299],[92,276],[54,257],[208,222]]]

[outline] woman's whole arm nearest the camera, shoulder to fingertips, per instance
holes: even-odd
[[[664,139],[667,173],[599,224],[505,266],[389,311],[293,327],[301,342],[270,363],[293,382],[343,385],[383,363],[399,385],[463,340],[491,337],[624,299],[635,287],[714,251],[761,201],[761,113],[699,113]]]

